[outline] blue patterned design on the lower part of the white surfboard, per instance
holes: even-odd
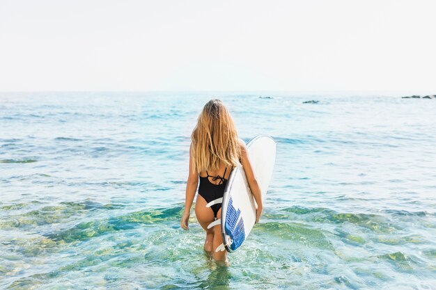
[[[240,209],[236,211],[235,207],[233,207],[233,199],[230,198],[228,201],[226,223],[224,224],[224,227],[226,228],[226,234],[228,234],[233,240],[233,243],[230,246],[232,250],[239,248],[245,240],[244,220],[242,220],[240,214]]]

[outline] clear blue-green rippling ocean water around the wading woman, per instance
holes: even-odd
[[[436,100],[267,96],[1,93],[0,289],[436,289]],[[229,266],[180,228],[212,97],[278,150]]]

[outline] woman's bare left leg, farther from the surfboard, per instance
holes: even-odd
[[[215,220],[213,215],[213,211],[210,207],[206,207],[206,200],[203,196],[197,194],[196,202],[195,202],[195,215],[200,223],[201,227],[206,231],[206,238],[204,241],[204,250],[205,252],[212,257],[213,243],[214,243],[214,229],[208,229],[208,225]]]

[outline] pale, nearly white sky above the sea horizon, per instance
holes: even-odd
[[[436,1],[0,0],[0,91],[436,94]]]

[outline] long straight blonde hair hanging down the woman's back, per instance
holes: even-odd
[[[194,170],[217,170],[219,161],[226,167],[241,166],[238,132],[226,106],[211,99],[198,115],[191,134]]]

